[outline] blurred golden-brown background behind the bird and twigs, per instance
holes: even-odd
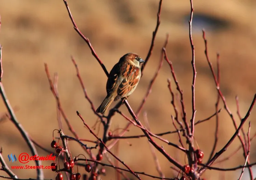
[[[209,57],[216,70],[216,53],[220,53],[221,83],[220,87],[225,95],[229,109],[232,111],[237,124],[235,96],[239,96],[241,115],[244,116],[250,107],[256,92],[256,1],[254,0],[194,0],[193,41],[196,59],[196,121],[205,119],[215,112],[217,92],[204,55],[204,42],[202,29],[206,31],[208,39]],[[150,48],[152,32],[156,25],[158,0],[105,0],[105,1],[68,1],[75,22],[81,32],[90,39],[96,53],[108,71],[121,56],[128,52],[139,54],[145,58]],[[52,75],[58,73],[58,90],[60,101],[73,128],[81,138],[95,140],[83,126],[76,115],[78,110],[89,126],[93,126],[97,117],[90,109],[84,98],[75,68],[70,56],[73,55],[84,80],[87,93],[98,107],[106,95],[106,76],[98,62],[91,55],[87,44],[74,31],[63,1],[32,1],[9,0],[0,1],[1,30],[0,43],[3,47],[3,85],[9,101],[17,107],[16,116],[29,135],[38,143],[52,150],[52,131],[58,129],[56,102],[49,89],[48,80],[44,71],[44,63],[48,64]],[[173,62],[179,84],[184,91],[184,101],[187,119],[191,118],[191,47],[188,35],[188,20],[190,16],[190,2],[188,0],[163,0],[161,24],[155,40],[155,46],[144,75],[140,83],[129,97],[129,103],[134,111],[139,107],[150,80],[159,64],[160,52],[169,33],[167,53]],[[171,115],[174,115],[170,104],[171,95],[167,88],[167,78],[171,78],[170,68],[166,61],[152,88],[152,93],[142,110],[147,112],[151,130],[154,133],[174,130]],[[172,78],[171,78],[172,79]],[[172,80],[172,87],[175,86]],[[174,91],[176,93],[176,91]],[[176,101],[177,102],[177,101]],[[111,107],[114,106],[112,104]],[[179,104],[177,104],[179,107]],[[219,107],[223,108],[223,103]],[[125,106],[120,108],[129,115]],[[0,102],[0,112],[5,113],[6,108]],[[248,122],[252,121],[251,137],[255,130],[256,108],[244,125],[247,132]],[[143,113],[139,116],[143,122]],[[220,150],[231,138],[235,131],[232,121],[223,109],[219,114],[219,141],[216,150]],[[63,121],[63,131],[72,135]],[[117,126],[123,128],[127,121],[120,115],[113,119],[111,130]],[[144,124],[144,122],[143,122]],[[200,149],[204,152],[203,163],[208,160],[214,141],[215,118],[195,127],[195,138]],[[100,127],[99,136],[102,134]],[[139,135],[141,130],[131,127],[126,135]],[[178,144],[177,134],[164,136],[167,140]],[[185,143],[185,140],[183,140]],[[162,142],[165,150],[181,164],[186,164],[185,154]],[[131,144],[132,146],[129,146]],[[30,153],[20,133],[9,120],[1,122],[0,145],[3,147],[3,157],[8,161],[8,154],[22,152]],[[93,145],[88,143],[88,145]],[[256,143],[252,141],[251,162],[256,161]],[[227,157],[234,149],[240,146],[238,138],[229,146],[220,159]],[[70,142],[73,156],[86,153],[74,142]],[[47,153],[37,148],[41,156]],[[112,149],[112,152],[114,149]],[[97,151],[94,151],[95,154]],[[174,178],[177,173],[173,171],[166,158],[156,153],[161,169],[166,177]],[[111,157],[112,158],[112,157]],[[131,169],[158,176],[154,160],[146,138],[121,140],[119,144],[119,158]],[[113,158],[112,158],[113,159]],[[108,163],[106,158],[103,162]],[[43,165],[50,162],[44,161]],[[242,149],[218,167],[230,168],[244,163]],[[34,162],[30,162],[34,165]],[[15,165],[22,165],[16,162]],[[106,168],[106,176],[102,180],[116,179],[115,170]],[[36,178],[35,170],[13,170],[19,178]],[[86,174],[79,168],[81,174]],[[203,177],[213,179],[237,179],[240,170],[233,172],[218,172],[207,170]],[[0,171],[0,175],[6,175]],[[56,173],[44,170],[46,179],[54,179]],[[126,173],[134,179],[132,175]],[[7,175],[6,175],[7,176]],[[254,177],[256,170],[254,170]],[[141,176],[142,179],[151,179]],[[245,170],[243,179],[248,179]]]

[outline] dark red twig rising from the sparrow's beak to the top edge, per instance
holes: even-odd
[[[146,57],[145,62],[143,63],[143,65],[141,67],[141,75],[143,75],[143,70],[144,70],[144,68],[145,68],[145,66],[147,64],[148,59],[150,58],[150,56],[152,54],[152,50],[153,50],[154,42],[155,42],[155,38],[156,38],[156,33],[157,33],[158,27],[160,25],[161,8],[162,8],[162,0],[159,1],[159,7],[158,7],[158,12],[157,12],[156,29],[153,32],[153,36],[152,36],[152,40],[151,40],[151,45],[150,45],[150,49],[148,50],[147,57]]]

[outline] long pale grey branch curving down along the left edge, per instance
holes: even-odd
[[[6,108],[8,109],[8,112],[10,114],[10,120],[14,123],[14,125],[16,126],[16,128],[18,129],[18,131],[20,132],[20,134],[22,135],[23,139],[26,141],[30,151],[31,151],[31,154],[33,156],[37,155],[38,152],[37,152],[37,149],[35,148],[33,142],[29,139],[29,135],[28,135],[28,132],[24,129],[24,127],[22,126],[22,124],[20,124],[16,118],[16,115],[14,113],[14,110],[5,94],[5,91],[4,91],[4,87],[3,87],[3,83],[2,83],[2,76],[3,76],[3,69],[2,69],[2,46],[0,44],[0,94],[1,94],[1,97],[3,99],[3,102],[6,106]],[[35,160],[35,164],[37,166],[40,166],[41,165],[41,161],[39,160]],[[37,169],[37,178],[38,179],[44,179],[44,174],[43,174],[43,169]]]

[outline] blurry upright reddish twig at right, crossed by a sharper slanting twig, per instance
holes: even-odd
[[[217,87],[219,87],[219,83],[220,83],[220,71],[219,71],[219,54],[217,54]],[[212,147],[212,151],[210,153],[208,162],[211,160],[211,158],[213,157],[213,154],[215,152],[216,146],[217,146],[217,142],[218,142],[218,128],[219,128],[219,115],[218,115],[218,108],[219,108],[219,99],[220,96],[219,94],[217,94],[217,102],[215,103],[215,110],[216,110],[216,127],[215,127],[215,134],[214,134],[214,144]]]

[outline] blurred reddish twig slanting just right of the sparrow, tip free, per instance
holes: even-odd
[[[167,35],[166,35],[165,44],[163,45],[164,48],[166,48],[166,46],[167,46],[168,38],[169,38],[169,35],[167,34]],[[157,71],[156,71],[155,75],[153,76],[153,78],[151,79],[150,84],[149,84],[149,86],[148,86],[148,88],[147,88],[147,92],[146,92],[146,94],[145,94],[145,96],[144,96],[144,98],[143,98],[143,100],[142,100],[142,102],[141,102],[141,104],[140,104],[140,106],[139,106],[137,112],[136,112],[136,115],[137,115],[137,116],[139,116],[139,114],[140,114],[140,112],[141,112],[141,110],[142,110],[144,104],[146,103],[146,100],[147,100],[148,95],[149,95],[149,94],[151,93],[151,91],[152,91],[153,84],[154,84],[154,82],[155,82],[155,80],[156,80],[157,75],[159,74],[159,71],[160,71],[162,65],[163,65],[163,52],[161,52],[160,61],[159,61],[159,66],[158,66],[158,68],[157,68]]]

